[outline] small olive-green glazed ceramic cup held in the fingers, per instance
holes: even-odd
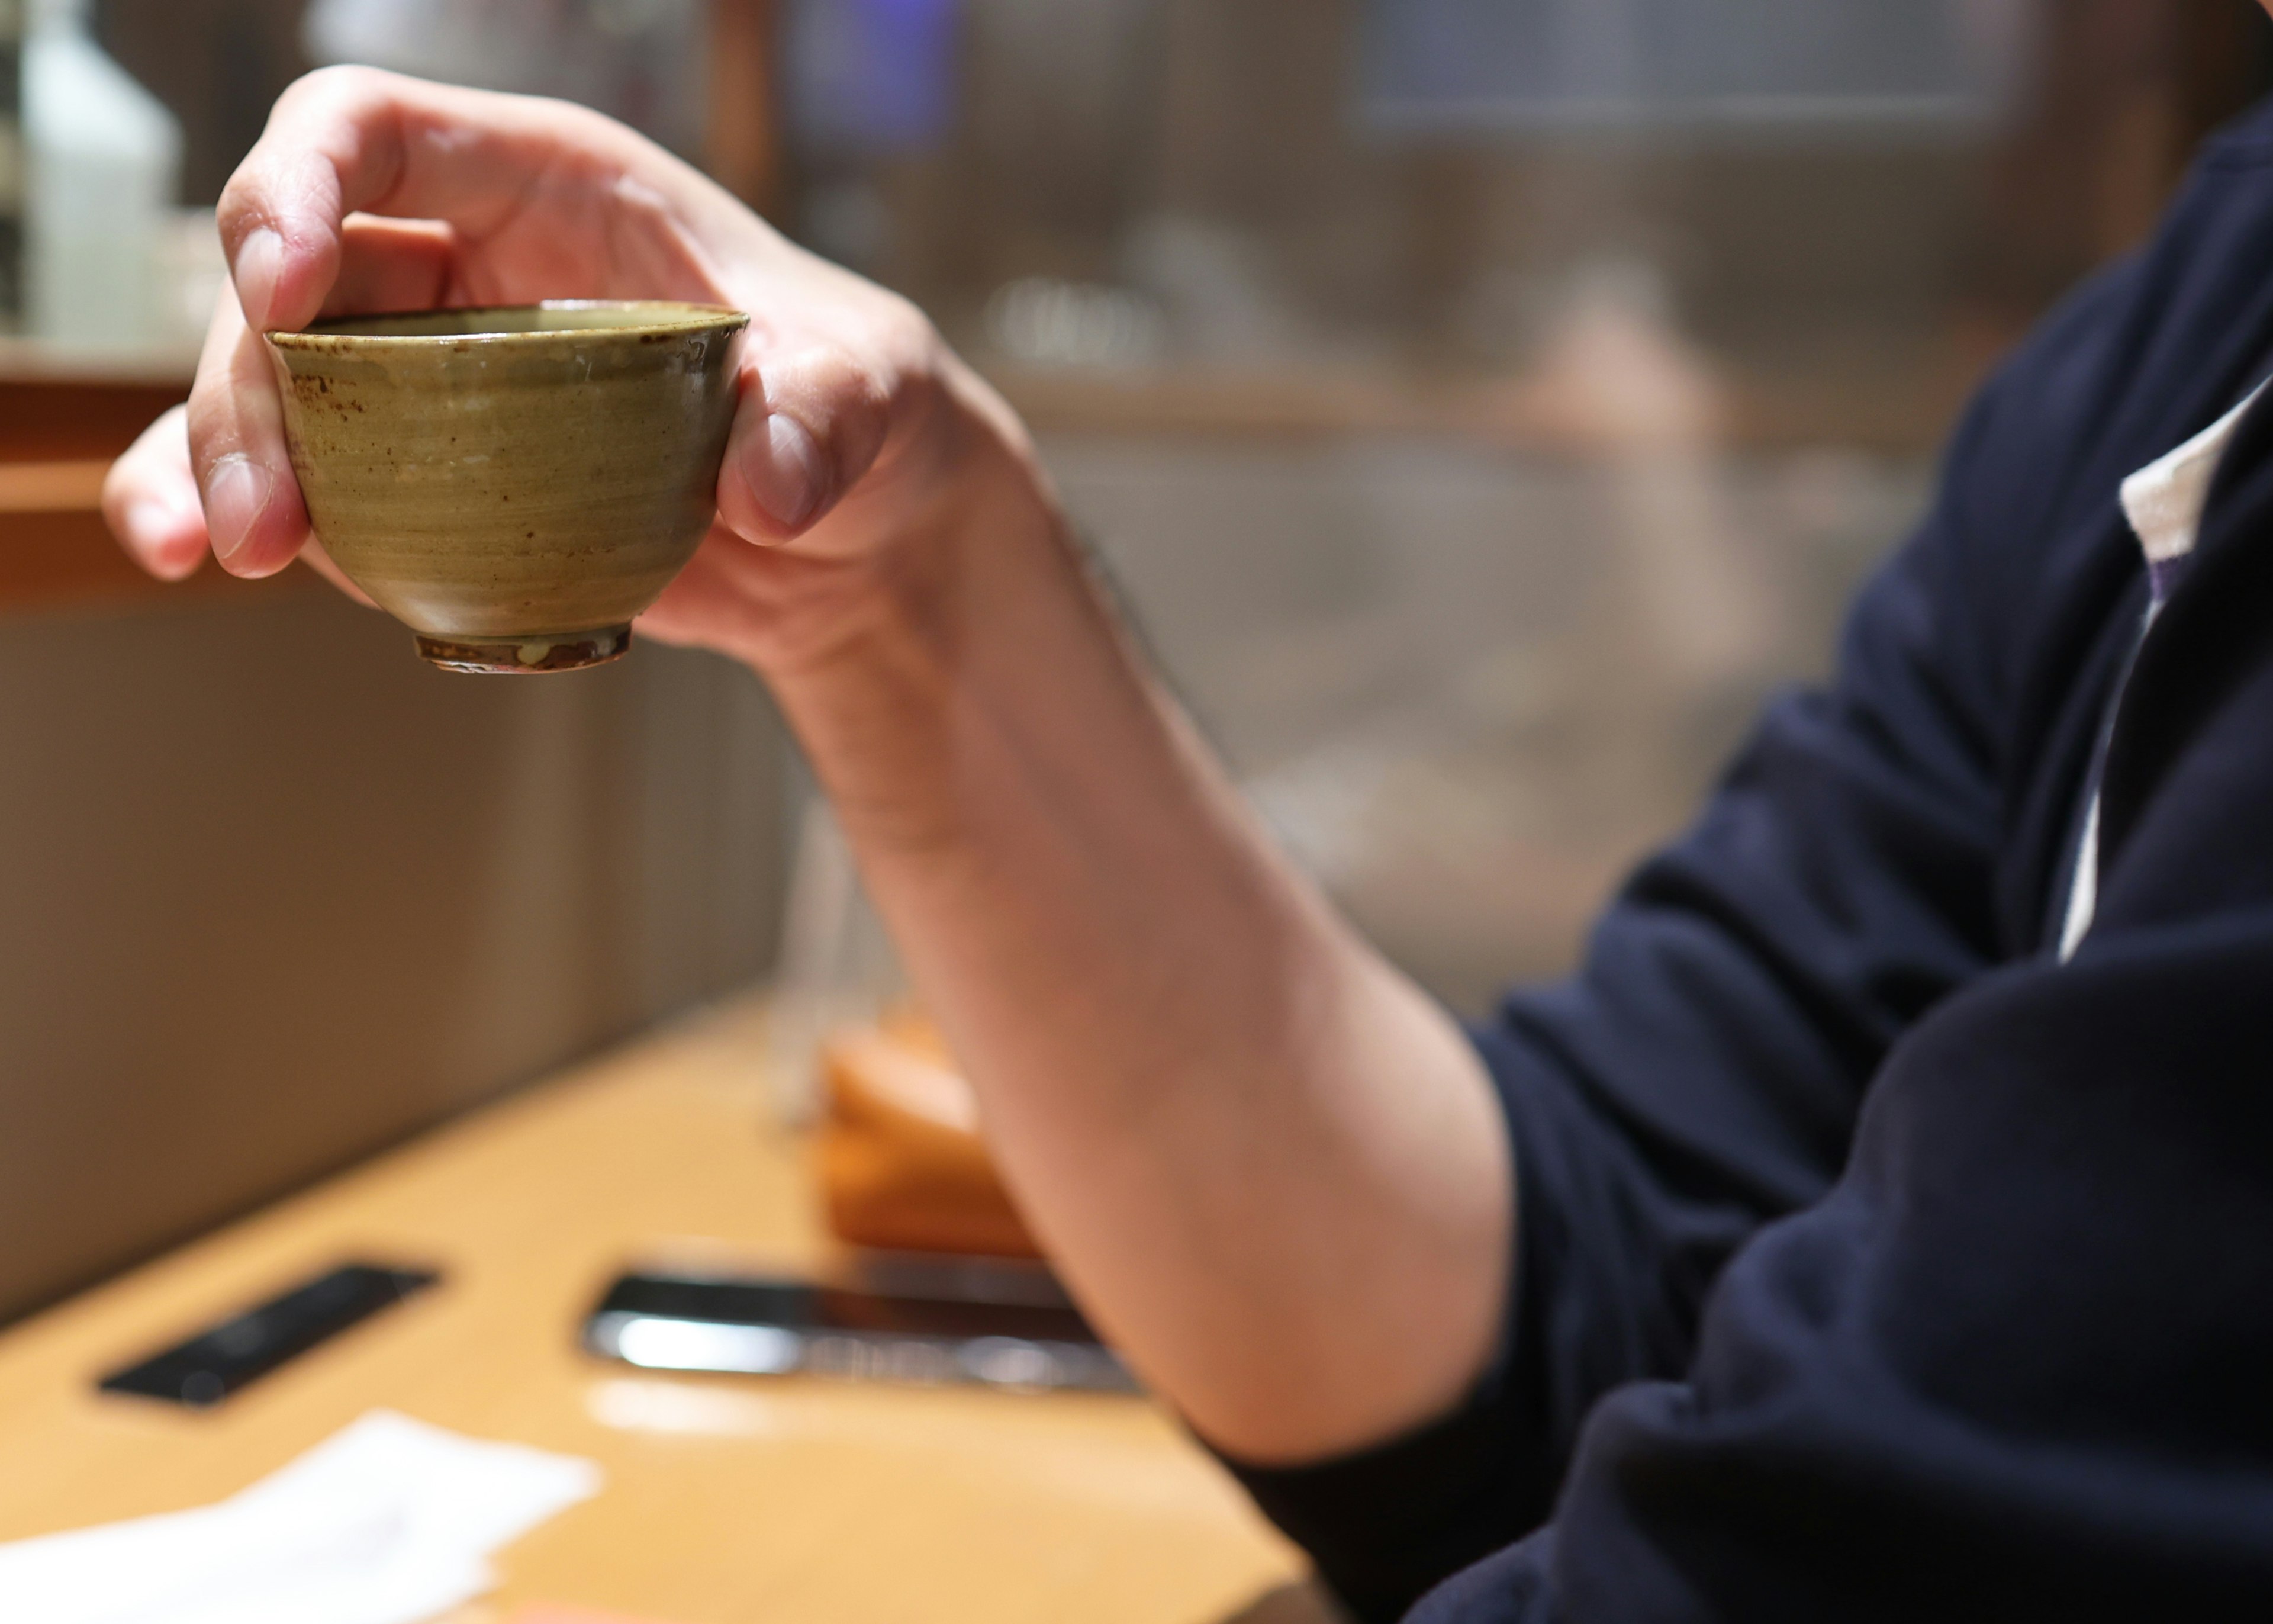
[[[718,507],[743,325],[555,300],[270,332],[309,523],[439,666],[616,660]]]

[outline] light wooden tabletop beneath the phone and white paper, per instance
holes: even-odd
[[[611,1271],[823,1256],[761,1033],[725,1010],[441,1128],[0,1335],[0,1538],[220,1499],[373,1408],[598,1460],[502,1556],[525,1601],[668,1624],[1323,1619],[1298,1556],[1141,1399],[655,1376],[577,1351]],[[127,1130],[127,1128],[123,1128]],[[389,1310],[211,1412],[93,1378],[348,1258]]]

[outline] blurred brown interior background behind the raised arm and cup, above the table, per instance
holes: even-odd
[[[155,589],[100,535],[100,464],[186,384],[198,209],[307,66],[591,102],[918,300],[1034,425],[1264,814],[1464,1010],[1566,967],[1762,696],[1823,676],[1966,391],[2273,68],[2253,0],[95,0],[25,27],[0,1317],[761,983],[784,917],[836,951],[746,673],[439,676],[320,587]],[[41,100],[98,80],[141,111]],[[91,275],[55,268],[66,159],[152,177],[111,237],[73,227],[143,266],[132,332],[55,291]]]

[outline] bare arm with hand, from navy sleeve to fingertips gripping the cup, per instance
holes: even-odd
[[[643,630],[773,685],[1023,1208],[1202,1433],[1300,1460],[1459,1397],[1512,1240],[1484,1071],[1264,839],[921,316],[605,121],[368,73],[280,105],[223,234],[266,325],[405,282],[750,309],[721,525]],[[307,541],[250,343],[223,312],[186,441],[114,471],[166,573],[202,541],[184,457],[225,566]]]

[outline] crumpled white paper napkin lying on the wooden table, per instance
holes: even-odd
[[[600,1467],[373,1410],[218,1506],[0,1544],[11,1624],[418,1624]]]

